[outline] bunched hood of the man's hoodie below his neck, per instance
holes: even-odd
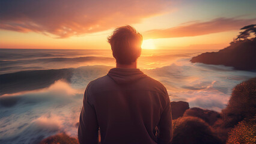
[[[107,75],[118,84],[133,83],[147,77],[139,68],[112,68]]]

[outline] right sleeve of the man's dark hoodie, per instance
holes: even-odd
[[[157,142],[159,144],[171,143],[172,140],[172,116],[171,104],[168,92],[165,89],[165,107],[163,108],[162,115],[160,116],[159,124],[157,125],[159,134]]]

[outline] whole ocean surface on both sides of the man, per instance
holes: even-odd
[[[190,62],[216,51],[143,49],[138,68],[163,83],[171,101],[221,112],[234,86],[256,72]],[[87,84],[113,67],[111,50],[0,49],[0,143],[77,136]]]

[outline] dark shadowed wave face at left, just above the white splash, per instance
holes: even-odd
[[[20,91],[47,88],[56,80],[70,81],[72,68],[59,70],[19,71],[0,75],[0,95],[12,94]]]

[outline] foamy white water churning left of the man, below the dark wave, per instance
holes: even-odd
[[[38,143],[55,133],[77,133],[82,91],[56,81],[47,89],[0,97],[0,143]]]

